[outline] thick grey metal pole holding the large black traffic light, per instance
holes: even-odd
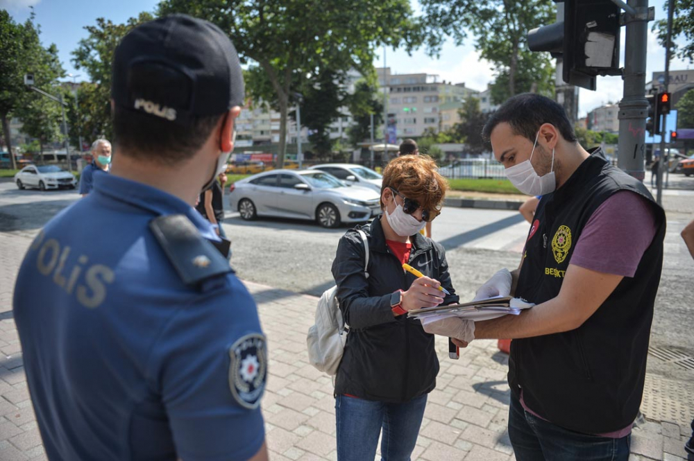
[[[629,6],[641,15],[648,12],[648,0],[629,0]],[[646,44],[650,19],[650,15],[634,17],[625,13],[624,94],[619,103],[617,166],[640,181],[645,177]]]

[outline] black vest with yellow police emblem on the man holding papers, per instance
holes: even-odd
[[[539,304],[559,294],[584,226],[618,191],[638,193],[652,203],[656,235],[634,277],[624,277],[581,327],[514,339],[509,360],[509,384],[516,397],[523,388],[523,400],[532,410],[586,434],[623,429],[638,412],[665,235],[663,209],[645,186],[599,155],[591,155],[564,186],[540,200],[516,296]]]

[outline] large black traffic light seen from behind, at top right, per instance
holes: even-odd
[[[555,58],[562,58],[565,82],[595,90],[596,76],[621,75],[620,9],[611,0],[563,3],[564,21],[528,32],[528,47],[530,51],[549,51]]]

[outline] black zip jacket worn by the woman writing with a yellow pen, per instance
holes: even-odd
[[[391,294],[407,290],[415,277],[391,253],[379,219],[359,228],[369,240],[369,279],[364,275],[364,244],[355,229],[340,239],[332,263],[337,299],[350,329],[335,393],[405,402],[436,386],[439,360],[434,336],[425,333],[419,320],[393,316]],[[439,280],[451,293],[444,304],[458,302],[443,247],[421,234],[411,236],[410,241],[409,265]]]

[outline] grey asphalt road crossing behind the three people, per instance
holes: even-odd
[[[666,196],[674,211],[668,212],[651,342],[694,356],[694,261],[679,237],[694,218],[694,192],[672,194]],[[78,198],[75,191],[19,191],[11,182],[0,182],[0,232],[31,238]],[[232,266],[240,278],[310,295],[320,295],[335,283],[330,267],[347,227],[323,229],[307,221],[262,218],[247,222],[234,212],[227,212],[224,227],[232,240]],[[433,232],[446,247],[453,286],[461,299],[471,299],[477,286],[496,270],[518,266],[527,223],[514,211],[446,208],[434,221]],[[648,368],[673,379],[694,379],[694,372],[652,358]]]

